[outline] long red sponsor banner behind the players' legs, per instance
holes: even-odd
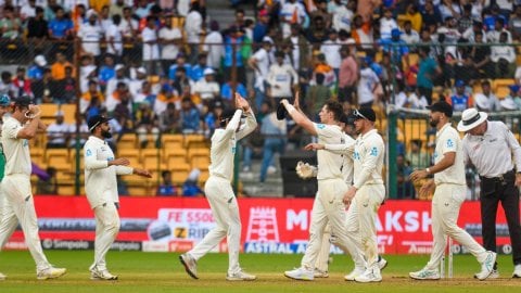
[[[40,238],[46,245],[84,249],[85,242],[93,241],[96,222],[85,198],[36,196],[35,203]],[[313,199],[239,199],[242,250],[245,253],[303,253],[312,206]],[[144,251],[183,252],[216,226],[203,198],[122,198],[119,215],[122,230],[117,240],[132,244],[115,245],[118,250],[137,250],[139,246]],[[461,206],[458,224],[482,242],[479,202],[466,202]],[[379,251],[385,254],[430,253],[431,228],[430,202],[386,201],[377,221]],[[510,253],[503,209],[498,212],[497,229],[498,246],[501,252]],[[7,249],[26,249],[20,230],[13,234]],[[226,250],[226,242],[215,247],[216,252]],[[454,250],[465,253],[457,243]],[[340,251],[333,249],[332,252]]]

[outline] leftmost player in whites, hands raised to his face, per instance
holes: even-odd
[[[5,118],[2,126],[2,148],[5,155],[5,177],[2,180],[2,193],[5,196],[0,220],[0,247],[3,249],[16,226],[24,231],[25,242],[36,263],[38,280],[59,278],[67,271],[54,268],[47,260],[38,235],[38,220],[30,188],[31,163],[28,140],[38,129],[45,130],[40,122],[40,110],[28,97],[14,102],[13,114]]]

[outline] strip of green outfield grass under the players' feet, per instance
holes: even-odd
[[[66,276],[58,280],[37,281],[35,265],[28,252],[2,252],[0,271],[8,275],[0,281],[0,292],[487,292],[498,290],[519,292],[521,279],[511,279],[509,256],[500,256],[501,278],[491,281],[472,279],[480,267],[469,255],[455,256],[455,278],[441,281],[414,281],[408,271],[420,269],[428,256],[389,255],[387,268],[381,283],[358,284],[346,282],[343,276],[353,265],[346,256],[333,256],[328,279],[313,282],[293,281],[283,276],[284,270],[298,266],[302,255],[241,255],[241,266],[258,276],[253,282],[228,282],[226,254],[208,254],[199,263],[200,280],[185,272],[176,253],[110,252],[109,266],[119,276],[118,281],[103,282],[89,279],[91,251],[47,251],[49,260],[56,267],[66,267]]]

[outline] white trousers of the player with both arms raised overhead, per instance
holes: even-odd
[[[212,214],[217,226],[201,242],[188,252],[195,260],[207,254],[226,237],[228,242],[228,273],[241,270],[239,251],[241,246],[241,218],[239,205],[230,182],[224,178],[209,177],[204,186]]]

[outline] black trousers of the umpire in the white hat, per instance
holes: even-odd
[[[512,260],[521,265],[521,225],[519,219],[519,191],[513,170],[495,178],[481,178],[481,221],[483,246],[496,252],[496,214],[498,203],[505,211],[512,243]]]

